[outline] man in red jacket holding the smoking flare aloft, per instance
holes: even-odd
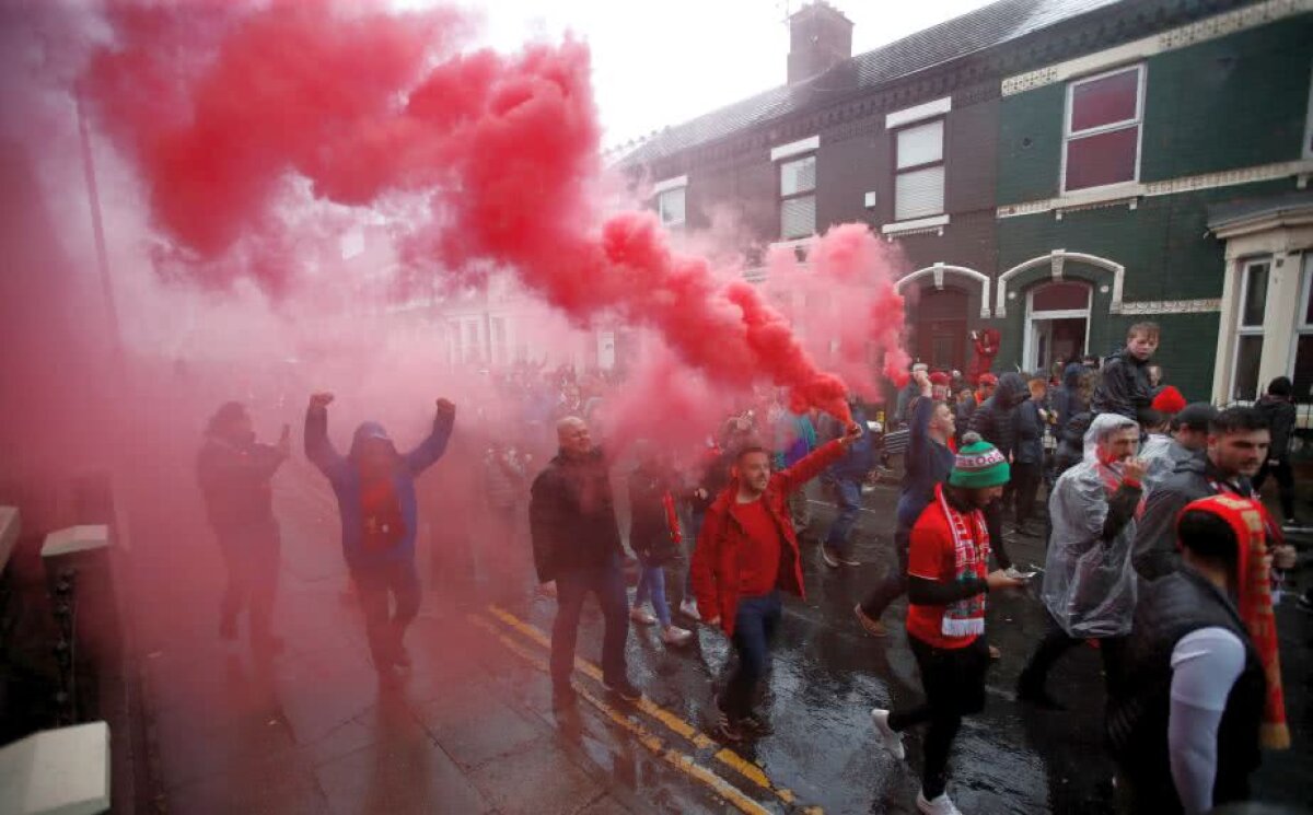
[[[860,436],[861,427],[850,424],[843,438],[773,475],[771,453],[747,446],[735,459],[734,479],[706,509],[693,551],[693,593],[702,619],[720,625],[738,652],[738,667],[718,700],[717,730],[727,742],[742,739],[744,727],[765,730],[752,715],[752,696],[769,665],[783,610],[780,591],[802,596],[802,560],[788,497]]]

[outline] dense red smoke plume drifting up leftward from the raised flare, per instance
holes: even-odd
[[[509,266],[578,324],[616,314],[656,329],[712,382],[769,378],[796,403],[847,416],[843,382],[756,289],[721,286],[706,261],[674,253],[651,214],[599,226],[584,45],[461,54],[466,25],[450,10],[306,0],[117,1],[106,17],[116,43],[83,91],[144,176],[156,223],[198,260],[269,232],[278,192],[297,177],[352,206],[418,194],[429,206],[411,236],[446,273]],[[288,264],[255,270],[274,291],[290,274]],[[889,365],[895,301],[873,312],[886,320],[877,333]]]

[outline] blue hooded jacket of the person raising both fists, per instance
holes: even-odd
[[[415,559],[415,532],[419,524],[415,478],[442,457],[446,440],[452,436],[453,420],[450,413],[437,413],[428,438],[404,455],[395,454],[390,484],[382,484],[379,490],[378,484],[368,486],[361,478],[360,457],[362,445],[370,438],[381,438],[391,445],[382,425],[366,421],[356,428],[351,453],[344,458],[328,441],[328,411],[314,407],[306,411],[306,458],[328,478],[337,496],[341,551],[352,570]],[[395,453],[395,448],[393,451]],[[373,488],[366,492],[366,487]],[[382,533],[377,529],[378,521],[366,526],[366,504],[378,508],[378,517],[389,526],[394,522],[391,508],[395,507],[402,529],[390,526],[387,533]]]

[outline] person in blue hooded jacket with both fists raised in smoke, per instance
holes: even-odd
[[[334,395],[327,392],[310,396],[306,458],[324,474],[337,496],[341,550],[360,595],[369,651],[374,668],[387,676],[394,667],[410,667],[403,639],[419,613],[415,479],[446,451],[456,406],[439,399],[433,429],[408,453],[397,451],[381,424],[366,421],[356,428],[351,451],[343,457],[328,440],[332,400]],[[395,602],[395,610],[389,609],[389,600]]]

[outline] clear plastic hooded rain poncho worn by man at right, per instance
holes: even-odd
[[[1099,441],[1130,419],[1100,413],[1085,434],[1085,459],[1062,474],[1049,496],[1053,538],[1044,567],[1040,598],[1070,637],[1123,637],[1136,610],[1136,572],[1130,549],[1134,518],[1111,541],[1103,539],[1111,487],[1121,480],[1119,465],[1099,462]]]

